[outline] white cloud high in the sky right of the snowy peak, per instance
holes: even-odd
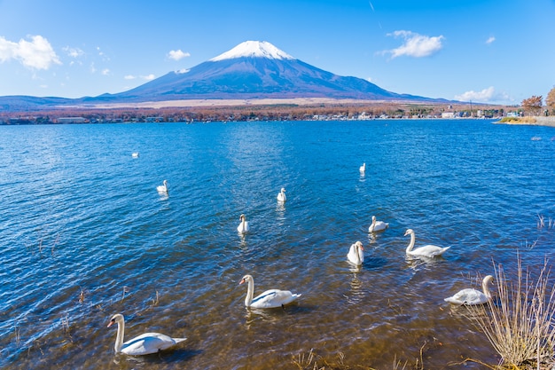
[[[402,56],[422,58],[428,57],[437,51],[442,50],[442,40],[444,37],[418,35],[410,31],[395,31],[393,34],[387,34],[395,38],[403,38],[404,43],[398,48],[382,51],[383,54],[391,54],[391,58]]]

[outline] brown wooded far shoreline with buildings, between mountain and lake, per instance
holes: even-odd
[[[0,122],[13,124],[59,123],[62,117],[80,117],[84,122],[210,122],[210,121],[302,121],[314,119],[426,118],[453,112],[460,117],[504,115],[506,106],[365,103],[294,104],[269,106],[190,106],[163,108],[57,108],[27,112],[0,112]],[[479,114],[480,112],[480,114]]]

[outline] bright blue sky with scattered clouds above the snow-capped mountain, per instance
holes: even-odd
[[[555,86],[555,0],[0,0],[0,96],[126,91],[247,40],[428,98]]]

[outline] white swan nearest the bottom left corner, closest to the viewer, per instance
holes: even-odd
[[[178,342],[183,342],[187,338],[171,338],[168,335],[160,333],[145,333],[138,335],[135,338],[123,342],[123,335],[125,332],[125,320],[121,313],[113,315],[108,327],[113,324],[118,324],[118,334],[115,337],[115,345],[113,349],[116,353],[125,353],[131,356],[142,356],[151,353],[156,353],[159,350],[167,350],[169,347],[176,345]]]

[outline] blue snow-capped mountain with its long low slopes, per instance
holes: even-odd
[[[188,70],[169,72],[129,91],[75,99],[0,97],[0,108],[256,98],[446,101],[387,91],[362,78],[334,75],[311,66],[271,43],[246,41]]]

